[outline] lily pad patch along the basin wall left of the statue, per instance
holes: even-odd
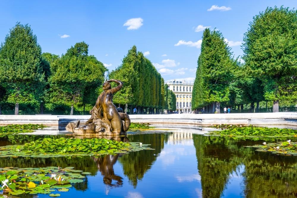
[[[33,130],[43,129],[47,126],[43,124],[10,124],[7,126],[0,126],[0,135],[31,133]]]

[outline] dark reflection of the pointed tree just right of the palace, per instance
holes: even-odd
[[[235,150],[228,148],[224,137],[193,134],[194,146],[201,176],[202,196],[221,197],[229,174],[236,170],[240,160]]]

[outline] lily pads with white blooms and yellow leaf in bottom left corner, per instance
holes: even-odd
[[[67,192],[71,184],[83,182],[85,175],[90,174],[73,168],[0,168],[0,191],[9,195],[49,194],[50,197],[59,197],[60,194],[52,192]]]

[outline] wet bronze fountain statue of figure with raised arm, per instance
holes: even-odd
[[[110,82],[118,84],[111,88]],[[100,135],[119,135],[126,132],[131,124],[127,113],[118,112],[113,104],[113,94],[123,87],[120,80],[108,80],[103,84],[103,92],[98,96],[95,106],[90,110],[91,118],[84,126],[79,127],[77,123],[69,123],[67,131],[76,135],[98,133]]]

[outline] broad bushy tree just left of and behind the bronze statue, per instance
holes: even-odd
[[[102,83],[107,70],[94,56],[88,56],[88,47],[85,42],[76,43],[51,65],[49,102],[71,106],[70,115],[74,106],[87,101],[89,89]]]

